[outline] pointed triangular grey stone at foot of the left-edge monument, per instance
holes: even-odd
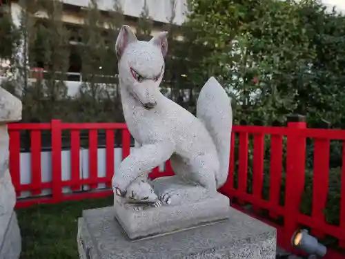
[[[18,259],[21,253],[21,233],[16,213],[12,212],[3,241],[0,242],[0,259]]]

